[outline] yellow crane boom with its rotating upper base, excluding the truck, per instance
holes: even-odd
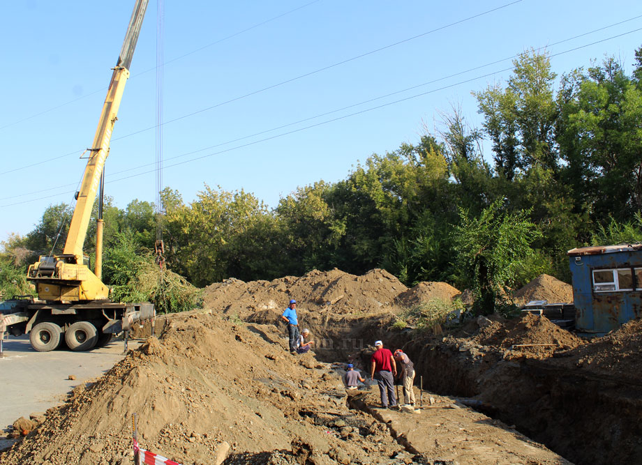
[[[67,241],[62,254],[42,256],[29,266],[27,279],[36,283],[40,300],[81,301],[101,300],[109,296],[109,289],[91,272],[84,263],[82,247],[91,211],[96,201],[96,192],[103,174],[105,159],[110,151],[110,139],[120,106],[125,83],[129,77],[129,67],[140,34],[142,20],[147,10],[148,0],[136,0],[125,40],[113,68],[112,79],[107,97],[100,113],[100,121],[89,148],[89,161],[85,167],[82,185],[77,194],[77,203],[69,227]]]

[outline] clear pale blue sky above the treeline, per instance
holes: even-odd
[[[558,74],[605,55],[630,73],[642,45],[639,0],[162,4],[163,185],[186,202],[207,183],[274,207],[417,142],[451,105],[479,126],[470,92],[504,82],[500,60],[530,47],[547,47]],[[0,241],[73,201],[133,5],[3,2]],[[107,158],[105,194],[121,208],[156,198],[156,9],[149,0]]]

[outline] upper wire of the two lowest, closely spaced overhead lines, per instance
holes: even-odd
[[[636,17],[634,17],[634,18],[630,18],[629,20],[625,20],[625,21],[621,21],[621,22],[618,22],[618,23],[615,23],[615,24],[611,24],[611,25],[609,25],[609,26],[603,26],[603,27],[601,27],[601,28],[594,29],[594,30],[589,31],[589,32],[581,33],[581,34],[578,34],[577,36],[573,36],[573,37],[566,38],[566,39],[563,39],[563,40],[558,40],[558,42],[548,44],[546,47],[554,47],[555,45],[560,45],[560,44],[562,44],[562,43],[569,42],[570,40],[574,40],[574,39],[576,39],[576,38],[580,38],[580,37],[583,37],[583,36],[587,36],[588,34],[595,33],[595,32],[597,32],[597,31],[602,31],[602,30],[604,30],[604,29],[608,29],[609,27],[612,27],[612,26],[616,26],[616,25],[622,24],[622,23],[624,23],[624,22],[629,22],[629,21],[634,20],[634,19],[637,19],[637,18],[639,18],[639,17],[642,17],[642,15],[636,16]],[[595,41],[595,42],[592,42],[592,43],[589,43],[589,44],[586,44],[586,45],[581,45],[580,47],[575,47],[575,48],[573,48],[573,49],[565,50],[564,52],[558,52],[558,53],[556,53],[556,54],[551,54],[551,56],[550,56],[550,57],[551,57],[551,58],[553,58],[553,57],[555,57],[555,56],[559,56],[559,55],[561,55],[561,54],[566,54],[566,53],[569,53],[569,52],[574,52],[574,51],[575,51],[575,50],[577,50],[577,49],[581,49],[581,48],[585,48],[585,47],[590,47],[591,45],[596,45],[596,44],[598,44],[598,43],[605,42],[606,40],[611,40],[611,39],[613,39],[613,38],[618,38],[618,37],[621,37],[621,36],[625,36],[625,35],[627,35],[627,34],[629,34],[629,33],[633,33],[633,32],[639,31],[639,30],[640,30],[640,29],[635,29],[634,31],[628,31],[628,32],[621,33],[621,34],[618,34],[618,35],[615,35],[615,36],[611,36],[611,37],[609,37],[609,38],[604,38],[604,39],[602,39],[602,40],[597,40],[597,41]],[[539,51],[539,50],[541,50],[541,49],[543,49],[543,48],[546,48],[546,47],[539,47],[539,48],[537,48],[536,50],[537,50],[537,51]],[[473,68],[468,68],[467,70],[459,71],[458,73],[453,73],[453,74],[451,74],[451,75],[447,75],[447,76],[439,77],[439,78],[437,78],[437,79],[433,79],[433,80],[428,81],[428,82],[424,82],[424,83],[421,83],[421,84],[417,84],[417,85],[415,85],[415,86],[410,86],[410,87],[407,87],[407,88],[405,88],[405,89],[401,89],[400,91],[394,91],[394,92],[391,92],[391,93],[387,93],[387,94],[385,94],[385,95],[383,95],[383,96],[378,96],[378,97],[371,98],[371,99],[368,99],[368,100],[363,100],[363,101],[361,101],[361,102],[357,102],[357,103],[354,103],[354,104],[352,104],[352,105],[348,105],[348,106],[345,106],[345,107],[341,107],[341,108],[338,108],[338,109],[334,109],[334,110],[331,110],[331,111],[329,111],[329,112],[324,112],[324,113],[316,114],[315,116],[309,116],[308,118],[299,119],[298,121],[294,121],[294,122],[292,122],[292,123],[287,123],[287,124],[284,124],[284,125],[280,125],[280,126],[276,126],[276,127],[274,127],[274,128],[267,129],[267,130],[262,130],[262,131],[260,131],[260,132],[255,132],[255,133],[253,133],[253,134],[251,134],[251,135],[246,135],[246,136],[244,136],[244,137],[238,137],[237,139],[231,139],[231,140],[228,140],[228,141],[226,141],[226,142],[221,142],[221,143],[219,143],[219,144],[215,144],[215,145],[212,145],[212,146],[207,146],[207,147],[204,147],[204,148],[199,148],[199,149],[197,149],[197,150],[195,150],[195,151],[190,151],[190,152],[186,152],[186,153],[181,153],[181,155],[174,155],[173,157],[167,158],[167,160],[176,160],[176,159],[178,159],[178,158],[183,158],[183,157],[186,157],[186,156],[188,156],[188,155],[193,155],[193,154],[195,154],[195,153],[199,153],[199,152],[202,152],[202,151],[210,150],[210,149],[212,149],[212,148],[217,148],[217,147],[224,146],[224,145],[227,145],[227,144],[233,144],[234,142],[240,142],[241,140],[249,139],[249,138],[251,138],[251,137],[256,137],[256,136],[260,136],[260,135],[267,134],[268,132],[273,132],[273,131],[276,131],[276,130],[279,130],[279,129],[288,128],[288,127],[290,127],[290,126],[297,125],[297,124],[300,124],[300,123],[305,123],[306,121],[311,121],[311,120],[313,120],[313,119],[318,119],[318,118],[321,118],[322,116],[328,116],[328,115],[330,115],[330,114],[334,114],[334,113],[338,113],[338,112],[343,112],[343,111],[344,111],[344,110],[346,110],[346,109],[350,109],[350,108],[354,108],[354,107],[359,107],[360,105],[366,105],[366,103],[375,102],[376,100],[381,100],[382,98],[387,98],[387,97],[391,97],[391,96],[398,95],[398,94],[400,94],[400,93],[404,93],[404,92],[412,91],[412,90],[414,90],[414,89],[419,89],[419,87],[427,86],[427,85],[429,85],[429,84],[435,84],[435,82],[445,81],[446,79],[451,79],[452,77],[456,77],[456,76],[464,75],[464,74],[466,74],[466,73],[470,73],[470,72],[472,72],[472,71],[476,71],[476,70],[479,70],[479,69],[481,69],[481,68],[487,68],[488,66],[493,66],[493,65],[495,65],[495,64],[502,63],[503,61],[509,61],[509,60],[512,60],[512,59],[516,59],[516,58],[517,58],[518,56],[520,56],[520,55],[521,55],[521,54],[515,54],[515,55],[512,55],[512,56],[508,56],[507,58],[504,58],[504,59],[499,59],[499,60],[491,61],[491,62],[489,62],[489,63],[485,63],[485,64],[483,64],[483,65],[479,65],[479,66],[475,66],[475,67],[473,67]],[[512,69],[512,68],[507,68],[507,69]],[[495,71],[495,72],[493,72],[492,74],[495,74],[495,73],[501,73],[501,72],[503,72],[503,71],[505,71],[505,70]],[[484,76],[482,76],[482,77],[484,77]],[[475,77],[473,80],[475,80],[475,79],[480,79],[480,78],[481,78],[481,77]],[[468,82],[468,81],[465,81],[465,82]],[[460,82],[460,83],[458,83],[458,84],[463,84],[463,83],[465,83],[465,82]],[[458,85],[458,84],[455,84],[455,85]],[[443,89],[445,89],[445,88],[443,88]],[[439,90],[439,89],[438,89],[438,90]],[[334,120],[331,120],[331,121],[334,121]],[[263,140],[268,140],[268,139],[263,139]],[[218,153],[221,153],[221,152],[218,152]],[[122,173],[126,173],[126,172],[128,172],[128,171],[133,171],[133,170],[135,170],[135,169],[141,169],[141,168],[144,168],[144,167],[149,167],[149,166],[151,166],[151,165],[154,165],[154,163],[147,163],[147,164],[144,164],[144,165],[139,165],[139,166],[137,166],[137,167],[132,167],[132,168],[127,168],[127,169],[122,169],[121,171],[116,171],[116,172],[114,172],[114,173],[112,173],[112,174],[110,174],[110,175],[108,175],[108,176],[116,176],[117,174],[122,174]],[[174,165],[172,165],[172,166],[174,166]],[[73,185],[73,184],[64,184],[64,185],[59,185],[59,186],[54,187],[54,188],[47,188],[47,189],[37,190],[37,191],[33,191],[33,192],[26,192],[26,193],[22,193],[22,194],[12,195],[12,196],[9,196],[9,197],[0,197],[0,200],[15,199],[15,198],[17,198],[17,197],[24,197],[24,196],[26,196],[26,195],[34,195],[34,194],[38,194],[38,193],[40,193],[40,192],[47,192],[47,191],[55,190],[55,189],[68,188],[68,187],[70,187],[71,185]],[[54,196],[57,196],[57,195],[61,195],[61,194],[56,194],[56,195],[52,195],[52,196],[49,196],[49,197],[54,197]],[[48,198],[48,197],[41,197],[40,199],[42,199],[42,198]]]

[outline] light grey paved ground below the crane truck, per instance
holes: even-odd
[[[130,341],[129,349],[140,344]],[[70,390],[80,383],[93,381],[123,358],[123,341],[89,352],[56,350],[36,352],[29,337],[9,337],[3,341],[0,358],[0,431],[30,413],[44,413],[64,402]],[[76,379],[71,381],[68,376]]]

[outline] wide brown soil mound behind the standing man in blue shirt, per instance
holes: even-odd
[[[204,290],[204,307],[230,321],[276,325],[285,335],[281,314],[293,298],[300,329],[311,330],[322,360],[335,361],[380,339],[394,314],[403,311],[395,300],[405,291],[408,287],[385,270],[356,276],[335,268],[272,281],[214,283]]]

